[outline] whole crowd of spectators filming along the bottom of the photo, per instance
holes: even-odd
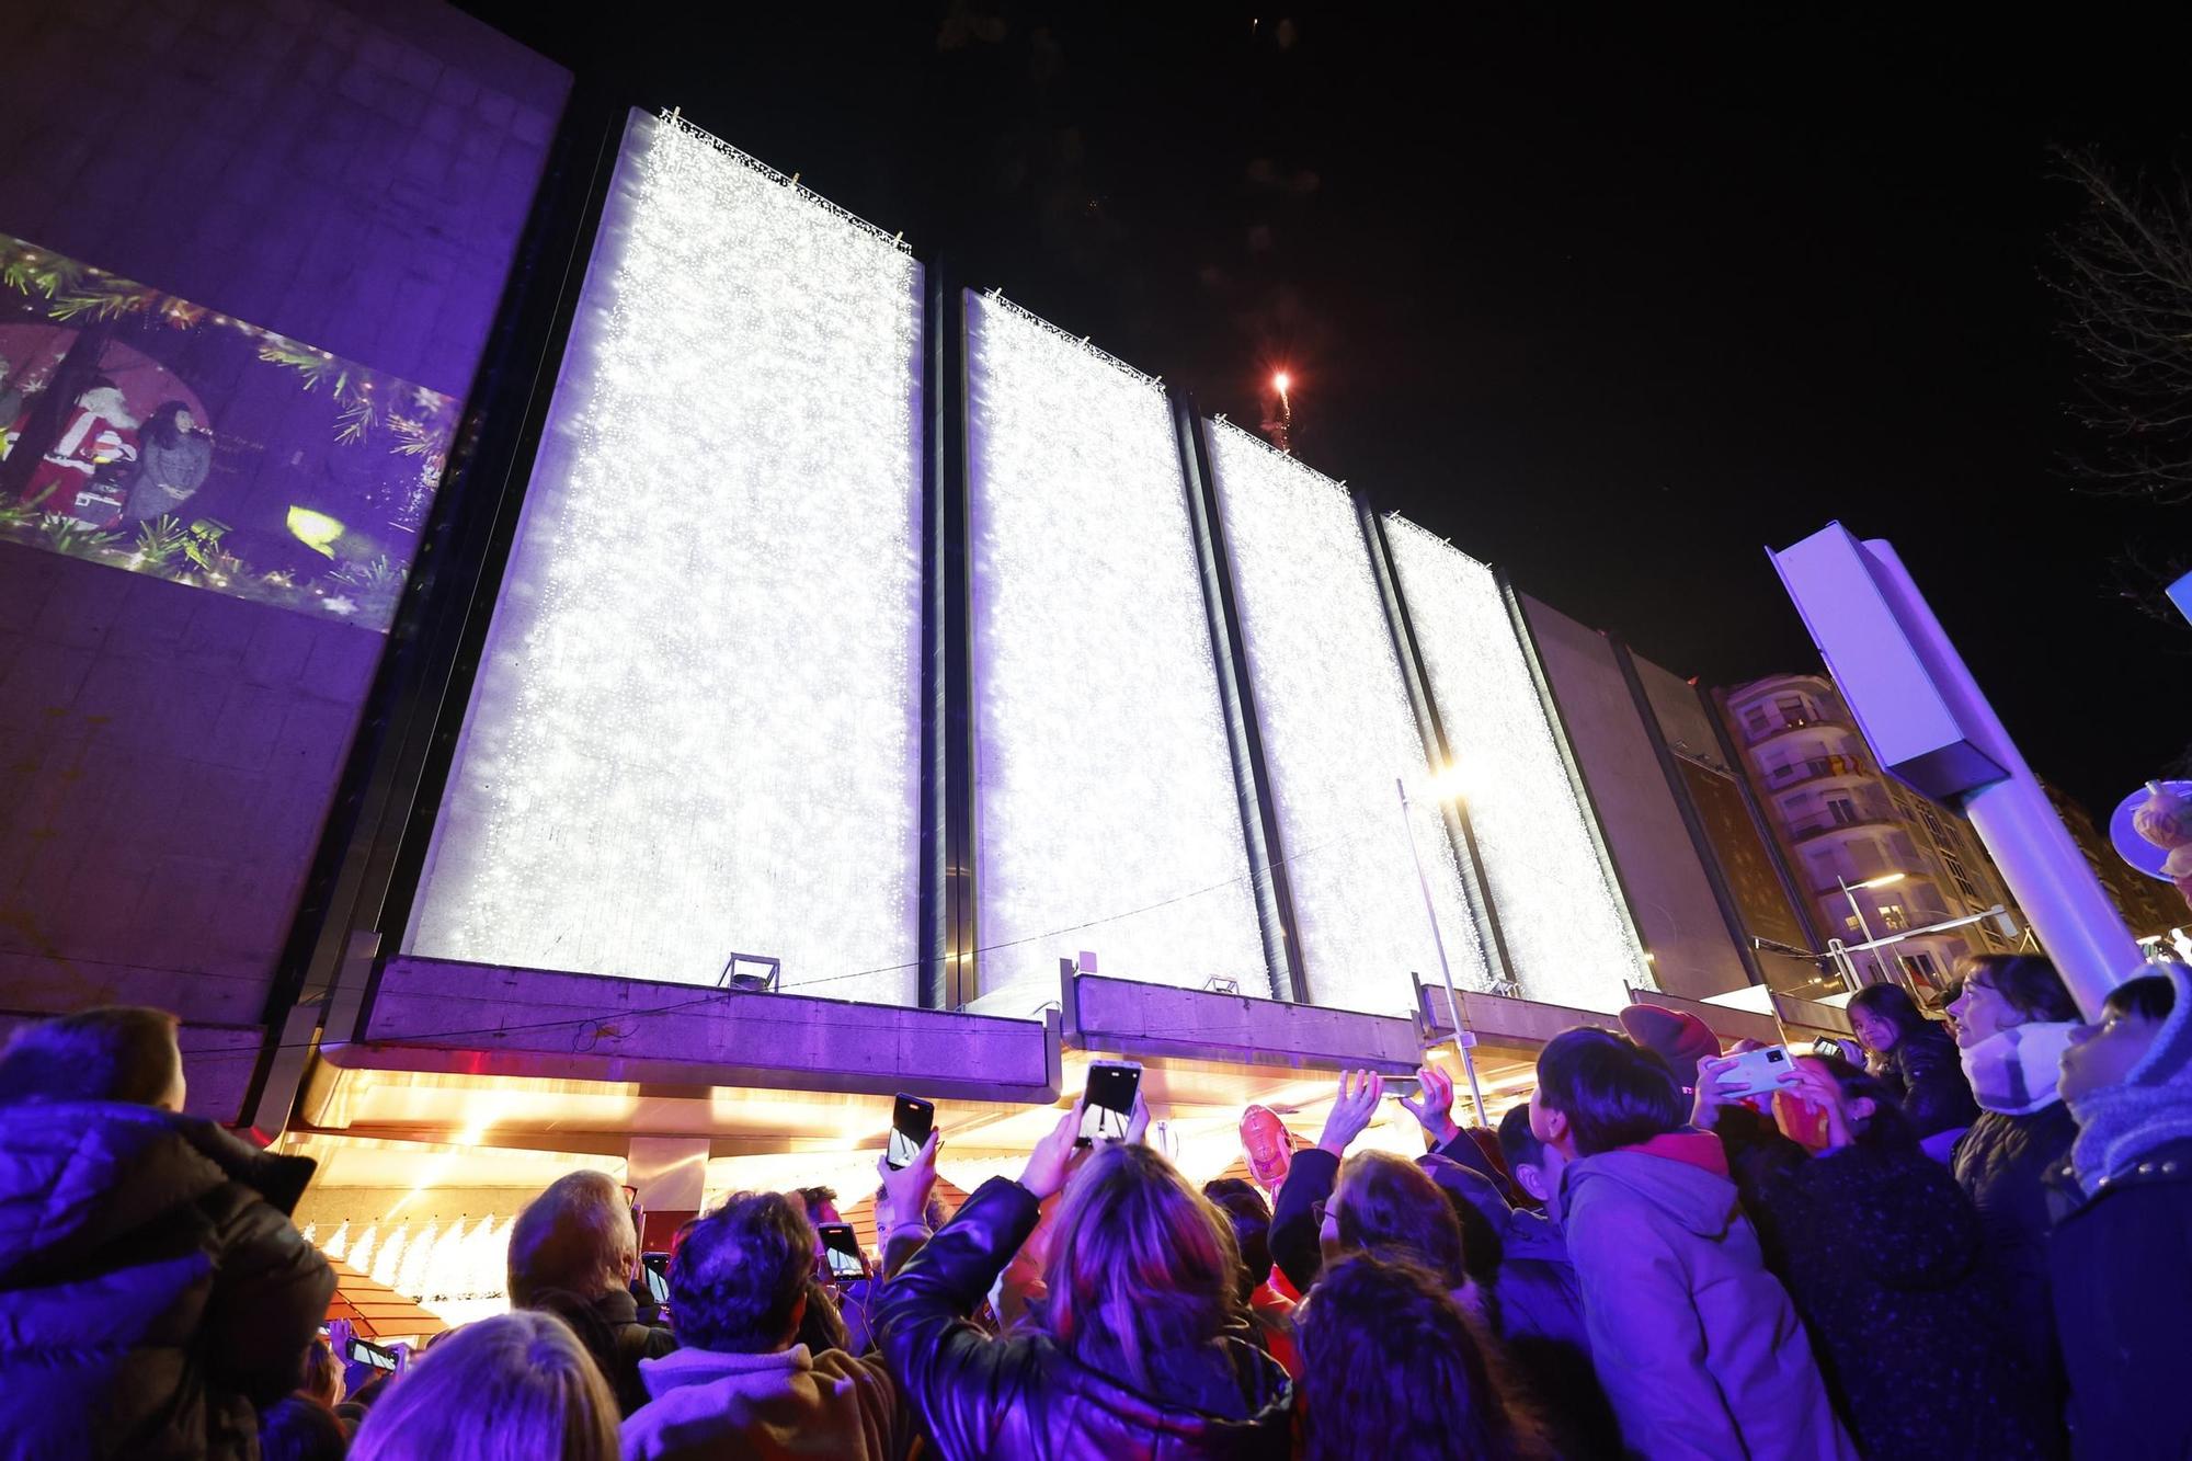
[[[1416,1158],[1352,1149],[1385,1079],[1350,1071],[1313,1147],[1201,1189],[1140,1097],[1096,1141],[1076,1101],[947,1215],[929,1132],[857,1272],[835,1193],[741,1191],[666,1301],[576,1171],[511,1226],[511,1312],[362,1369],[289,1218],[313,1165],[182,1114],[171,1016],[92,1009],[0,1051],[0,1454],[2192,1454],[2185,967],[2089,1022],[1979,956],[1938,1013],[1861,989],[1857,1044],[1760,1088],[1633,1005],[1497,1130],[1427,1064]]]

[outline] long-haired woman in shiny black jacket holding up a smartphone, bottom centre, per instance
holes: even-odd
[[[883,1356],[925,1432],[947,1457],[1291,1454],[1293,1382],[1247,1338],[1232,1226],[1142,1143],[1140,1092],[1118,1141],[1081,1145],[1092,1123],[1074,1101],[883,1288]],[[971,1314],[1052,1200],[1046,1305],[993,1336]]]

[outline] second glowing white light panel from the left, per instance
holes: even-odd
[[[1164,390],[969,298],[980,976],[1269,992]]]

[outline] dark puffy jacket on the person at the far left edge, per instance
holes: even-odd
[[[0,1454],[256,1457],[335,1275],[313,1163],[110,1101],[0,1108]]]

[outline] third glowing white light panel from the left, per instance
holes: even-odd
[[[1210,450],[1311,996],[1405,1013],[1409,972],[1438,983],[1409,829],[1455,983],[1491,987],[1352,498],[1236,426]]]

